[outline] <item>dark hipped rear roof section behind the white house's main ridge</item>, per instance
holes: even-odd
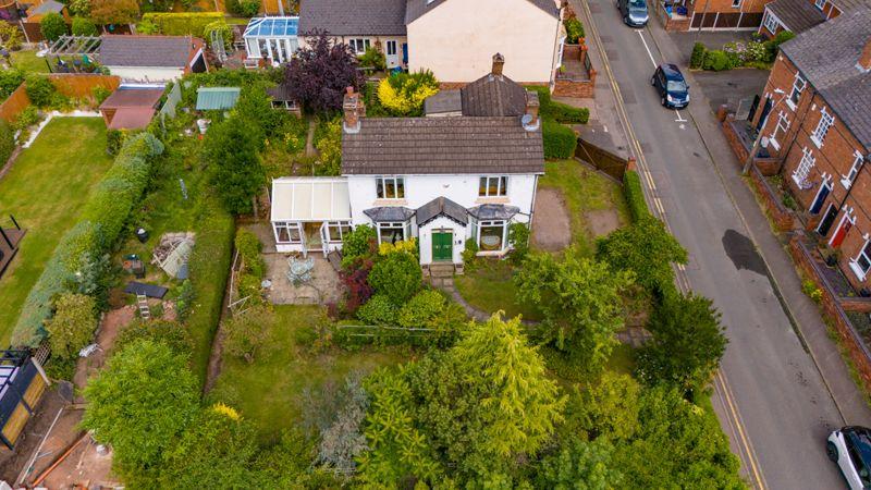
[[[522,115],[526,89],[507,76],[487,74],[461,89],[463,115]]]

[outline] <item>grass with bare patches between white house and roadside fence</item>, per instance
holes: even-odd
[[[629,210],[621,184],[576,160],[555,160],[544,163],[542,187],[559,189],[568,208],[572,243],[584,254],[596,252],[596,236],[587,213],[614,209],[621,225],[629,223]]]

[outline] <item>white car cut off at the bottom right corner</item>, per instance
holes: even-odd
[[[871,488],[871,429],[850,426],[835,430],[829,434],[825,452],[850,489]]]

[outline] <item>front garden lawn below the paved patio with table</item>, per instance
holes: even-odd
[[[209,394],[253,420],[261,440],[302,424],[307,408],[317,409],[306,403],[309,396],[317,396],[328,384],[341,387],[349,372],[368,372],[407,360],[400,350],[333,348],[314,353],[307,344],[314,339],[314,328],[323,318],[323,310],[317,306],[284,305],[275,306],[275,315],[278,321],[255,362],[247,364],[224,355],[221,376]]]

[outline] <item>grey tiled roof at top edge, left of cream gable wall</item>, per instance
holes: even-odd
[[[405,36],[405,0],[303,0],[299,33]]]

